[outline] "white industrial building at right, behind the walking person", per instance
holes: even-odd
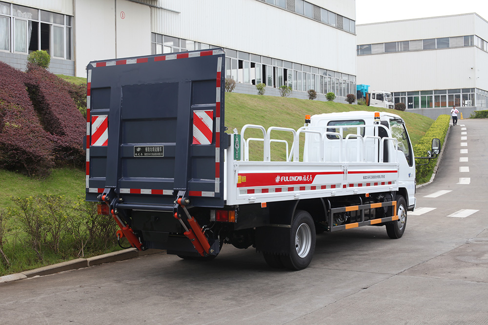
[[[357,25],[357,83],[436,118],[488,109],[488,22],[477,14]]]

